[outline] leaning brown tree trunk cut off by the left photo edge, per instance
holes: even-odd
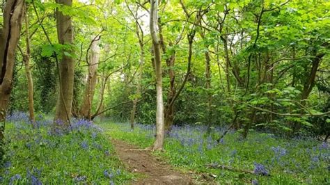
[[[6,111],[13,88],[15,49],[19,40],[24,13],[24,0],[8,0],[3,10],[3,26],[0,29],[0,161],[3,158],[3,137]]]

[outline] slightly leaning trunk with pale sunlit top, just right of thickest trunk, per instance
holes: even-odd
[[[100,47],[98,46],[98,42],[99,40],[92,41],[91,56],[88,62],[88,77],[84,93],[84,100],[80,108],[81,117],[88,120],[91,120],[91,109],[97,81],[97,67],[100,58]]]

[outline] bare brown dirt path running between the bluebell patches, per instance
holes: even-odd
[[[131,172],[139,172],[146,177],[132,184],[194,184],[193,179],[168,164],[159,161],[150,151],[137,149],[122,140],[111,140],[119,158]]]

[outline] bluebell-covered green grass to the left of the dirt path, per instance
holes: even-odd
[[[91,122],[74,120],[63,130],[52,129],[52,121],[41,115],[37,129],[24,113],[7,120],[0,184],[125,184],[134,178]]]

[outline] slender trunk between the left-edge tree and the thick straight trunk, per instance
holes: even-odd
[[[34,102],[33,102],[33,79],[30,70],[30,33],[29,33],[29,15],[25,13],[25,35],[26,35],[26,53],[23,54],[23,62],[25,65],[25,74],[28,83],[28,94],[29,94],[29,115],[30,121],[32,122],[33,127],[35,127],[36,119],[34,118]]]

